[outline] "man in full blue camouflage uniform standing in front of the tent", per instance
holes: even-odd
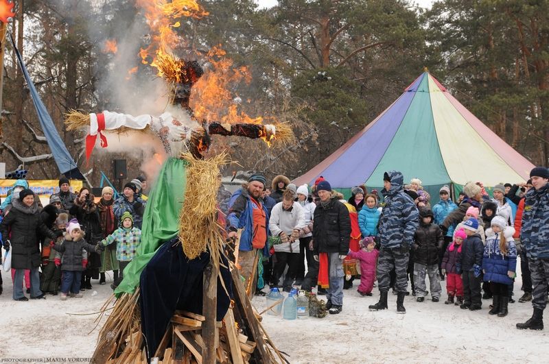
[[[371,311],[387,308],[387,294],[390,285],[390,271],[394,268],[397,274],[397,312],[406,313],[404,296],[408,288],[406,269],[410,258],[410,246],[414,242],[414,232],[419,225],[419,213],[410,196],[404,193],[404,176],[397,171],[384,173],[385,206],[379,218],[380,244],[377,261],[377,283],[380,298],[377,304],[369,306]]]

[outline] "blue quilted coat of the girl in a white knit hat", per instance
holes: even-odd
[[[486,230],[486,245],[482,256],[482,269],[484,270],[484,282],[512,284],[513,280],[507,276],[508,271],[517,269],[517,248],[513,240],[515,229],[510,226],[504,230],[507,241],[507,255],[500,251],[500,235],[492,229]]]

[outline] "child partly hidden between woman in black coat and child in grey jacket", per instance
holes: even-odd
[[[60,213],[55,222],[54,232],[57,230],[65,231],[68,222],[69,215],[67,213]],[[51,244],[54,243],[54,241],[51,241],[51,239],[48,241],[48,239],[46,239],[44,243],[45,244],[42,247],[42,284],[40,286],[40,291],[51,295],[57,295],[61,280],[61,271],[55,264],[56,255],[58,253],[56,250],[51,249]]]

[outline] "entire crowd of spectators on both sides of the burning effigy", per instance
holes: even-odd
[[[248,292],[267,286],[325,294],[338,314],[344,290],[360,280],[360,295],[379,300],[371,311],[388,308],[388,293],[417,302],[442,298],[445,304],[478,311],[491,299],[489,314],[504,317],[513,300],[517,258],[522,271],[519,302],[532,301],[533,316],[517,328],[543,329],[549,282],[549,171],[536,167],[526,183],[498,184],[490,197],[480,182],[469,182],[452,201],[449,186],[439,201],[421,180],[404,183],[398,171],[384,173],[384,189],[355,186],[344,199],[319,177],[296,186],[279,175],[268,186],[261,173],[229,193],[220,187],[220,215],[226,236],[237,243],[237,267]],[[27,181],[17,180],[0,206],[0,232],[12,252],[12,298],[27,301],[47,294],[80,298],[91,280],[115,289],[137,253],[145,210],[145,178],[128,182],[119,197],[109,186],[95,198],[83,187],[74,193],[59,180],[59,192],[42,207]],[[0,277],[1,278],[1,277]],[[427,280],[429,281],[427,285]],[[0,280],[0,294],[2,286]]]

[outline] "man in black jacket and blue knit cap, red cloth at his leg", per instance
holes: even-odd
[[[343,259],[349,252],[351,238],[351,218],[349,210],[332,195],[327,181],[316,186],[320,204],[314,210],[313,241],[314,260],[320,262],[319,277],[327,269],[329,288],[327,303],[329,313],[338,314],[343,307]]]

